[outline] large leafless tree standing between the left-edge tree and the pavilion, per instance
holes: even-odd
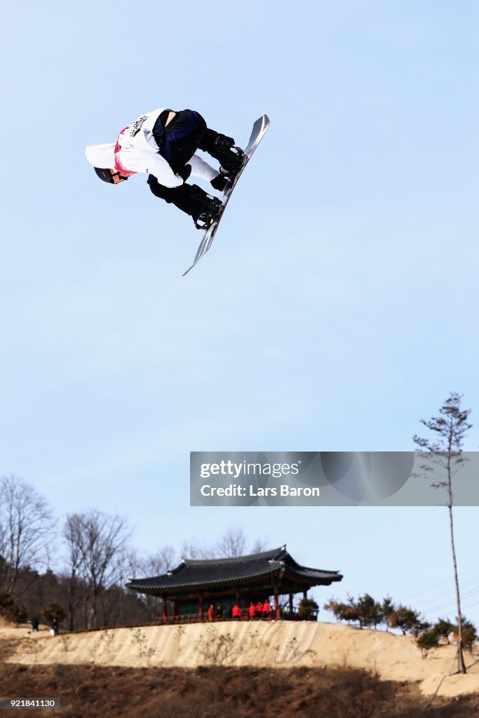
[[[88,585],[86,623],[93,628],[98,625],[103,593],[121,578],[121,559],[131,531],[124,518],[90,509],[68,516],[64,535],[70,571]]]

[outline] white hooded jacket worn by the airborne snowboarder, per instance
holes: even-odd
[[[173,172],[168,162],[159,154],[154,140],[153,127],[163,108],[140,115],[118,134],[116,143],[90,144],[85,150],[86,159],[93,167],[116,169],[127,177],[137,172],[153,174],[164,187],[180,187],[182,178]],[[188,160],[193,177],[211,182],[218,171],[210,167],[196,154]]]

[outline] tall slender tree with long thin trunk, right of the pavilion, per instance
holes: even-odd
[[[434,435],[437,438],[427,439],[415,435],[413,440],[414,443],[417,444],[417,446],[426,454],[425,457],[427,460],[440,467],[440,470],[442,471],[443,478],[432,483],[432,486],[437,489],[445,490],[447,496],[452,566],[454,569],[457,605],[457,660],[460,672],[466,673],[464,655],[462,651],[462,614],[460,607],[459,578],[457,576],[454,522],[452,516],[452,505],[454,503],[452,480],[464,462],[464,458],[462,457],[462,443],[466,432],[468,432],[468,429],[472,426],[472,424],[468,424],[470,409],[460,408],[461,398],[462,396],[460,396],[460,394],[451,392],[449,398],[446,399],[439,410],[440,416],[433,416],[432,419],[429,419],[428,421],[421,419],[421,423],[424,424],[429,431],[434,432]],[[423,468],[425,470],[430,470],[427,465]]]

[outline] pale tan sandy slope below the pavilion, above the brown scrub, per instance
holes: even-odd
[[[421,681],[432,694],[449,673],[454,646],[424,660],[414,640],[384,631],[330,623],[192,624],[116,628],[51,637],[44,629],[0,627],[0,640],[16,639],[11,663],[95,663],[98,666],[336,666],[376,668],[383,679]],[[467,675],[447,676],[439,695],[479,693],[478,656],[467,655]],[[474,665],[474,661],[478,661]]]

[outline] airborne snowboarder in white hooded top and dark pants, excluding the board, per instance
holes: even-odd
[[[197,149],[214,157],[220,169],[195,154]],[[188,178],[202,178],[223,192],[244,159],[234,139],[208,128],[200,113],[162,108],[139,116],[121,130],[116,143],[89,145],[85,154],[98,177],[112,185],[146,172],[155,197],[191,215],[197,229],[208,229],[223,205],[218,197],[188,184]]]

